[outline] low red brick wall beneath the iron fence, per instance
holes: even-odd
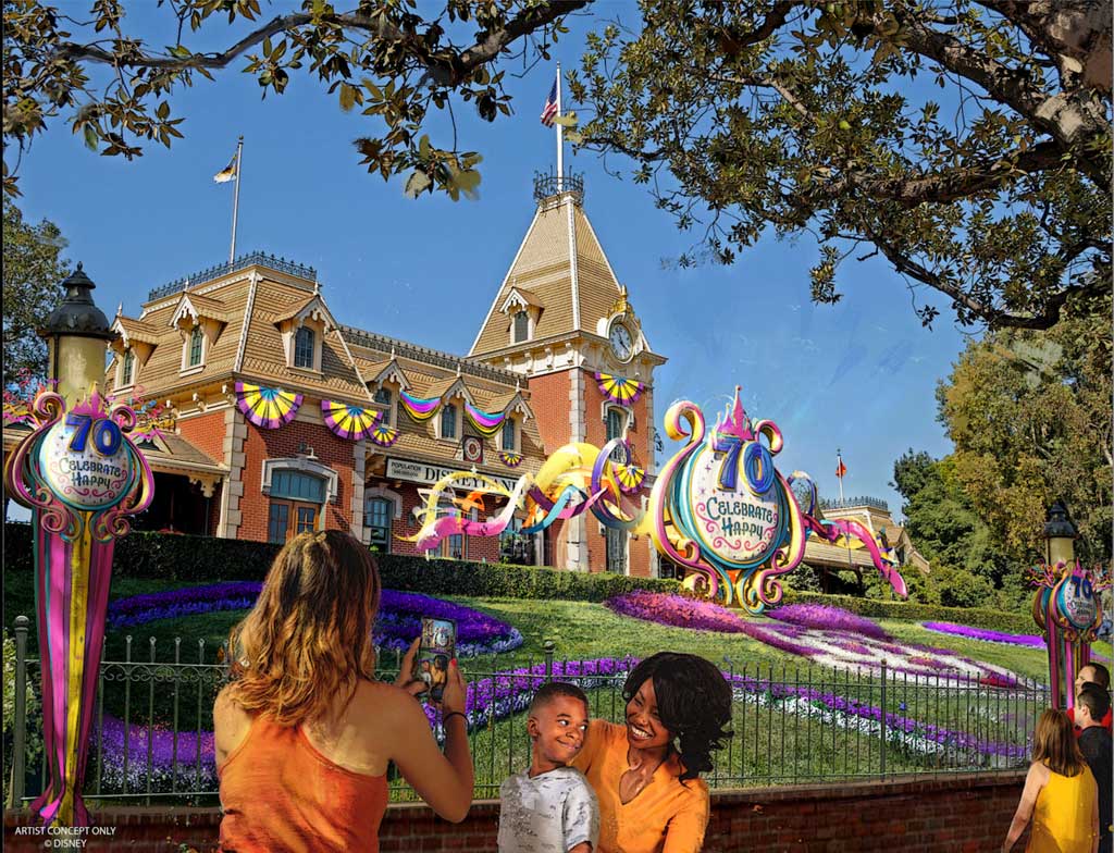
[[[1025,774],[906,777],[814,787],[722,791],[712,796],[705,853],[978,853],[996,851],[1009,829]],[[208,853],[221,815],[215,808],[118,807],[96,812],[88,851]],[[380,829],[383,853],[495,851],[497,801],[479,801],[451,824],[423,805],[391,806]],[[27,812],[4,813],[4,850],[43,850],[51,836],[17,834]],[[26,830],[25,830],[26,832]],[[185,845],[184,847],[180,845]],[[52,850],[78,847],[52,846]],[[1025,849],[1023,837],[1015,850]]]

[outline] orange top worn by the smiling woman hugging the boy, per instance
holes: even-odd
[[[698,853],[704,844],[711,798],[702,780],[681,782],[681,761],[671,756],[626,805],[619,778],[627,765],[626,726],[593,719],[573,766],[599,801],[599,844],[595,853]]]

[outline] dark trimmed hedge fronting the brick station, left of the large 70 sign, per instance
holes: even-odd
[[[278,548],[270,542],[136,531],[117,541],[113,571],[121,577],[187,582],[263,580]],[[4,524],[3,556],[6,571],[31,569],[30,524]],[[623,575],[426,560],[397,553],[379,555],[378,560],[384,587],[413,592],[603,601],[634,589],[681,591],[675,580]]]

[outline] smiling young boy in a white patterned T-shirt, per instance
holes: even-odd
[[[599,805],[584,774],[567,766],[584,746],[588,697],[576,685],[549,682],[530,703],[526,731],[530,768],[499,791],[499,853],[592,853]]]

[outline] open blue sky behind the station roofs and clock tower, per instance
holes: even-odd
[[[603,3],[600,11],[633,18],[634,7]],[[154,43],[173,42],[154,4],[141,14]],[[574,20],[553,51],[566,69],[577,63],[588,24]],[[61,228],[68,257],[84,262],[106,314],[123,302],[135,316],[152,287],[227,259],[233,185],[214,184],[213,175],[242,134],[237,254],[258,249],[316,267],[341,322],[467,352],[530,223],[532,175],[554,165],[554,134],[538,120],[554,63],[508,75],[510,118],[488,125],[456,105],[462,147],[485,158],[480,199],[459,203],[410,200],[403,178],[368,175],[352,139],[377,126],[358,110],[341,112],[316,80],[295,76],[285,95],[261,100],[242,66],[177,95],[172,106],[186,118],[185,139],[170,150],[150,146],[133,163],[92,154],[56,122],[23,156],[25,216]],[[521,71],[520,60],[509,70]],[[446,144],[437,137],[444,121],[431,127]],[[568,149],[565,163],[584,173],[588,217],[651,344],[670,359],[655,381],[658,429],[671,401],[719,410],[740,384],[749,414],[781,426],[784,473],[808,471],[822,496],[836,497],[842,449],[847,494],[883,498],[895,511],[895,460],[910,447],[950,451],[934,392],[966,339],[945,300],[921,292],[941,310],[936,327],[922,329],[905,283],[874,258],[843,267],[841,303],[812,305],[808,271],[819,252],[808,236],[764,238],[731,267],[677,269],[667,262],[693,238],[644,188],[607,175],[595,155]]]

